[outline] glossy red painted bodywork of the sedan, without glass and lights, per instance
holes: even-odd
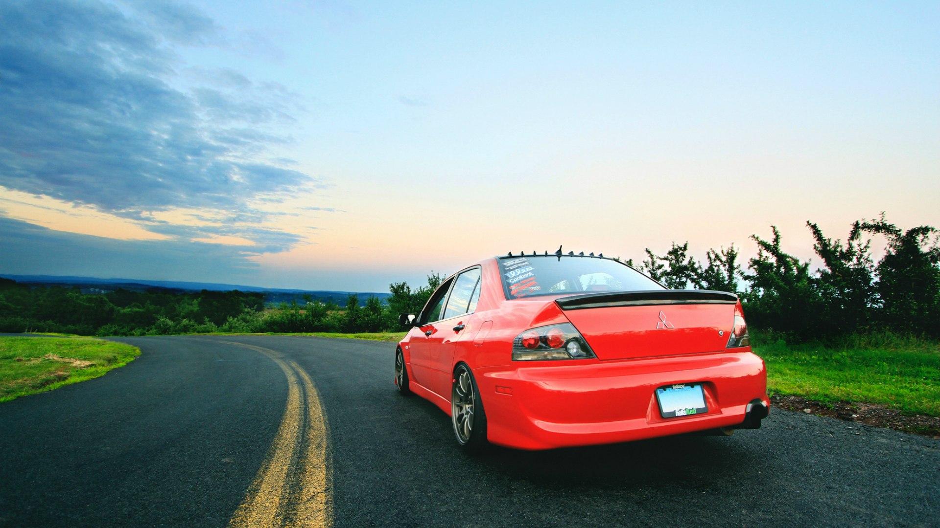
[[[448,414],[453,369],[470,367],[492,443],[547,449],[627,442],[736,426],[752,400],[769,406],[760,357],[746,346],[726,349],[735,316],[743,317],[740,303],[566,311],[555,303],[561,296],[507,300],[496,258],[475,266],[482,270],[476,311],[413,328],[401,349],[412,390]],[[566,322],[596,359],[512,361],[517,335]],[[475,337],[461,339],[452,330],[458,323]],[[663,418],[656,388],[690,382],[702,383],[708,412]]]

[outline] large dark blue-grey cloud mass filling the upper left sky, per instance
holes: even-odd
[[[279,131],[304,112],[285,86],[234,70],[177,74],[173,46],[223,39],[204,13],[174,2],[0,2],[0,185],[133,220],[209,208],[256,224],[267,218],[252,206],[258,196],[321,186],[267,155],[290,143]],[[194,78],[201,83],[180,87]],[[298,241],[267,227],[227,229],[281,250]]]

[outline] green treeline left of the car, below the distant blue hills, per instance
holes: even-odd
[[[263,293],[238,290],[175,293],[152,288],[96,294],[0,278],[0,332],[106,336],[398,331],[398,314],[420,311],[442,279],[431,273],[428,284],[416,289],[392,284],[387,303],[373,296],[360,303],[353,293],[343,307],[307,297],[304,303],[266,308]]]

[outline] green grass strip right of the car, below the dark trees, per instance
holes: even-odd
[[[756,334],[774,394],[874,403],[940,416],[940,344],[894,334],[853,335],[830,345],[791,345]]]

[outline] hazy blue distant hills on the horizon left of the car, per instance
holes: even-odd
[[[0,273],[0,277],[14,280],[20,284],[30,286],[61,286],[61,287],[80,287],[83,293],[107,293],[118,288],[130,289],[134,291],[143,291],[151,288],[167,289],[176,292],[202,291],[230,291],[237,289],[239,291],[252,291],[264,294],[266,303],[290,303],[297,301],[305,302],[305,296],[312,301],[321,301],[326,303],[332,301],[340,306],[346,305],[346,298],[350,293],[359,296],[359,303],[364,304],[370,297],[378,297],[380,301],[391,297],[390,293],[380,292],[357,292],[357,291],[333,291],[333,290],[307,290],[307,289],[285,289],[277,287],[254,287],[240,286],[231,284],[217,283],[194,283],[183,281],[150,281],[143,279],[98,279],[94,277],[71,277],[55,275],[8,275]]]

